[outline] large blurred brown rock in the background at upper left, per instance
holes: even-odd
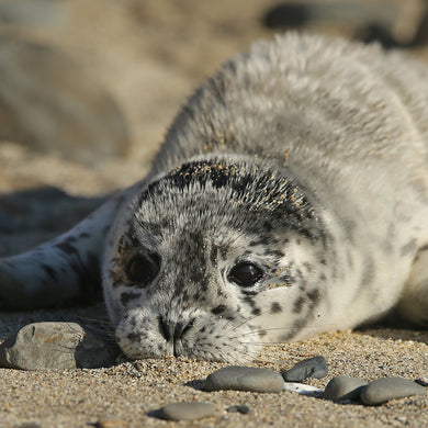
[[[116,102],[89,69],[54,47],[0,36],[0,140],[92,164],[128,148]]]

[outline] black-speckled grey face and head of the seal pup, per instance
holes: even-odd
[[[129,358],[252,359],[261,341],[289,339],[314,315],[319,230],[278,172],[188,164],[127,211],[104,290]]]

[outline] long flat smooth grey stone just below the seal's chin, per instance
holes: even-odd
[[[205,391],[252,391],[278,393],[284,381],[281,374],[268,369],[229,365],[211,373],[204,384]]]

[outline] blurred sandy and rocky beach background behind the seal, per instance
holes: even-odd
[[[428,59],[426,0],[0,0],[0,255],[140,179],[218,65],[297,30]]]

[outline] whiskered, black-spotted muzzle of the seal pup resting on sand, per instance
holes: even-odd
[[[123,317],[115,333],[122,351],[131,359],[185,357],[201,361],[241,362],[257,358],[259,329],[248,319],[227,319],[196,309],[172,319],[134,308]],[[261,331],[261,330],[260,330]]]

